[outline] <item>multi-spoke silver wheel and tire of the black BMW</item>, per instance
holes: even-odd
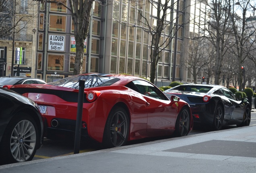
[[[19,113],[8,123],[0,144],[1,163],[31,161],[40,142],[35,121]]]

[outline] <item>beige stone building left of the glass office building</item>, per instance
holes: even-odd
[[[0,76],[35,76],[37,2],[33,0],[10,0],[2,14],[6,25],[2,24],[0,38],[0,62],[4,68]],[[10,7],[10,8],[9,8]],[[14,8],[15,7],[15,8]],[[4,26],[7,28],[4,28]],[[7,35],[5,29],[10,30]]]

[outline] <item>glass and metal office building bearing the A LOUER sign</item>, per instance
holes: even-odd
[[[68,1],[62,2],[69,6]],[[151,37],[143,29],[147,26],[141,25],[145,24],[145,20],[151,26],[155,24],[157,16],[153,4],[154,2],[149,3],[147,0],[114,0],[107,5],[95,1],[88,38],[85,40],[83,72],[126,73],[149,77]],[[180,7],[185,6],[185,1],[180,0]],[[170,14],[175,14],[175,8],[169,10]],[[167,23],[171,24],[173,18],[175,15],[169,15]],[[180,14],[175,80],[183,78],[184,19],[185,16]],[[162,42],[169,39],[171,27],[166,27],[162,33]],[[163,44],[161,47],[163,51],[159,54],[157,81],[171,81],[175,47],[173,40],[169,39],[169,46]],[[62,4],[40,2],[36,77],[50,82],[72,75],[75,54],[74,25],[68,9]]]

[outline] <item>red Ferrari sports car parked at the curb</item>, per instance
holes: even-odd
[[[140,77],[81,74],[41,85],[15,85],[11,90],[39,105],[48,135],[59,130],[75,132],[80,80],[85,80],[81,135],[104,147],[145,137],[185,136],[192,130],[188,103],[177,96],[168,99]]]

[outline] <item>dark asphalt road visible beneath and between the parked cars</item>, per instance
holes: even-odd
[[[251,114],[251,123],[250,126],[256,125],[256,111]],[[236,126],[228,126],[223,129],[235,128]],[[206,133],[208,131],[202,129],[194,129],[188,135],[194,135],[198,133]],[[129,142],[127,145],[135,144],[135,143],[145,143],[149,141],[156,141],[160,139],[165,139],[166,137],[158,137],[158,138],[150,138],[150,139],[142,139]],[[80,151],[79,153],[85,153],[89,151],[96,151],[102,149],[100,145],[91,141],[91,140],[83,140],[81,139]],[[74,142],[72,140],[49,140],[45,139],[44,144],[41,149],[38,149],[33,160],[36,159],[46,159],[51,157],[59,157],[64,155],[72,155],[74,153]]]

